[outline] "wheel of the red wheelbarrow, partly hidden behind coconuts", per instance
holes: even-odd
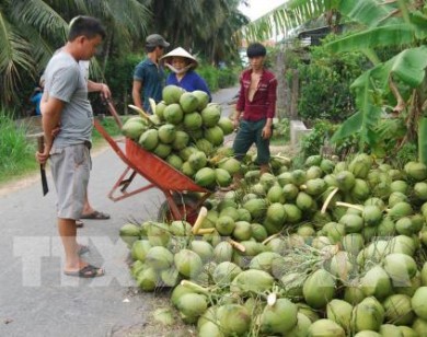
[[[200,205],[198,202],[198,197],[195,195],[182,195],[175,194],[173,200],[180,210],[180,219],[175,219],[172,214],[171,207],[168,200],[164,200],[160,206],[158,213],[158,221],[160,222],[171,222],[174,220],[185,220],[192,225],[196,222],[198,210]]]

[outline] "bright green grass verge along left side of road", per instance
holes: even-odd
[[[120,130],[112,117],[103,118],[101,123],[106,131],[115,137]],[[13,114],[0,111],[0,185],[33,174],[38,170],[35,160],[36,141],[27,138],[27,128],[16,125]],[[103,144],[104,138],[93,130],[93,146]]]

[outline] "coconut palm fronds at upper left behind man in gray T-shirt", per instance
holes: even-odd
[[[113,46],[128,50],[146,34],[149,11],[138,0],[2,0],[0,2],[0,95],[18,100],[19,86],[35,78],[54,50],[66,42],[76,15],[99,18],[107,26],[104,58]],[[118,48],[119,46],[119,48]]]

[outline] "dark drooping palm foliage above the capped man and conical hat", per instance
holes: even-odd
[[[244,24],[238,7],[243,0],[146,0],[153,13],[152,31],[163,34],[173,46],[204,54],[210,62],[236,55],[234,35]],[[238,38],[238,40],[235,39]]]

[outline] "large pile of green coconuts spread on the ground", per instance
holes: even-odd
[[[310,156],[214,195],[195,224],[127,223],[131,275],[198,336],[427,336],[427,166]]]

